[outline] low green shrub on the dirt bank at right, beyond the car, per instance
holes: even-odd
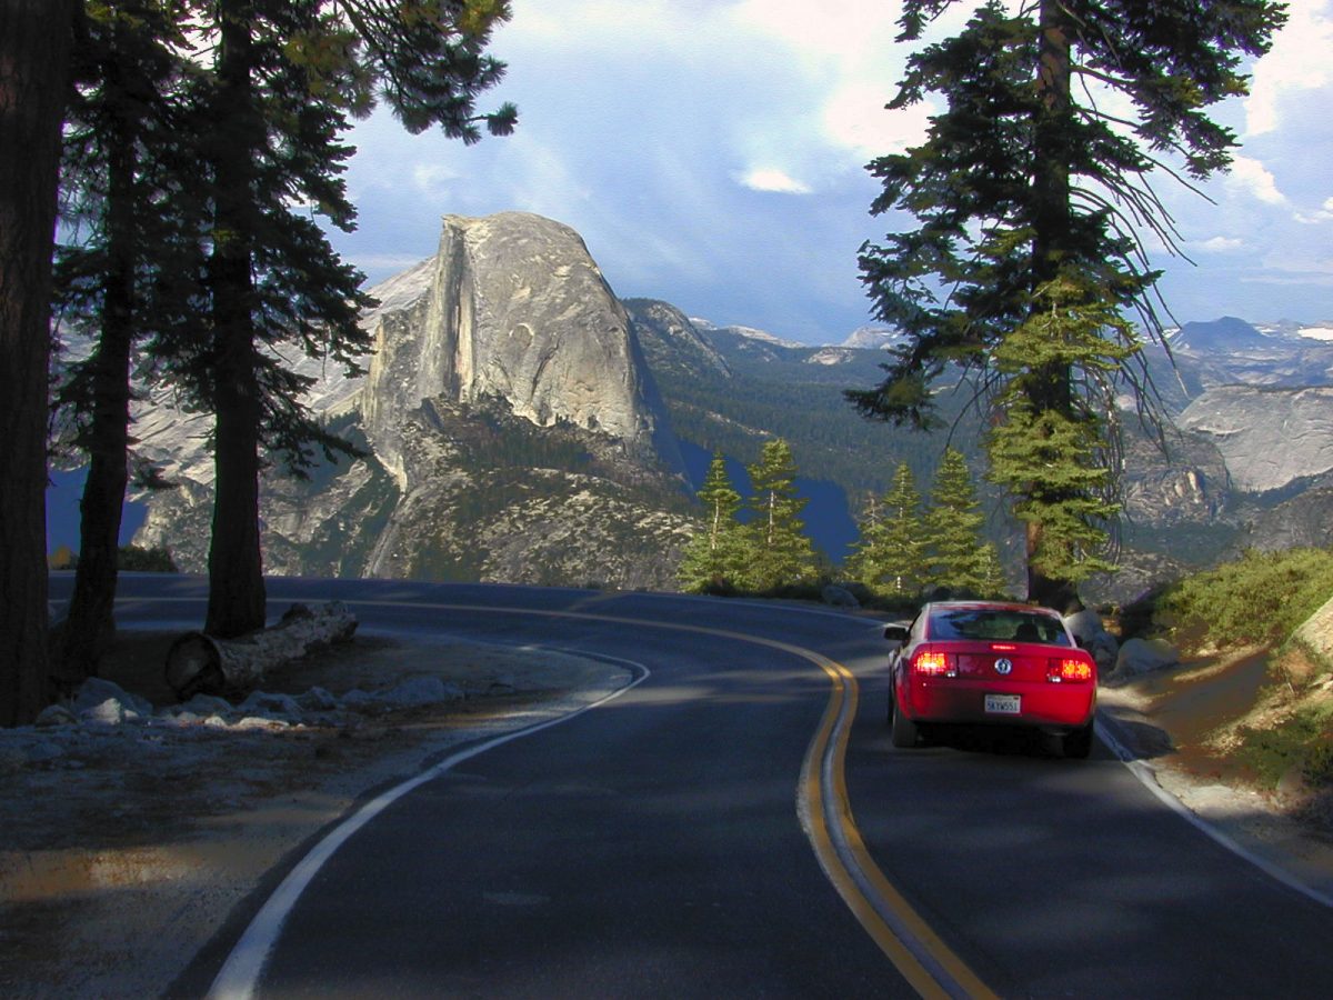
[[[1333,552],[1245,552],[1169,587],[1154,619],[1200,645],[1284,643],[1333,593]]]

